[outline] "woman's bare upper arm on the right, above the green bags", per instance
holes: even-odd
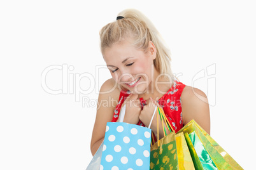
[[[210,109],[207,96],[197,88],[186,86],[181,94],[183,124],[194,119],[210,134]]]

